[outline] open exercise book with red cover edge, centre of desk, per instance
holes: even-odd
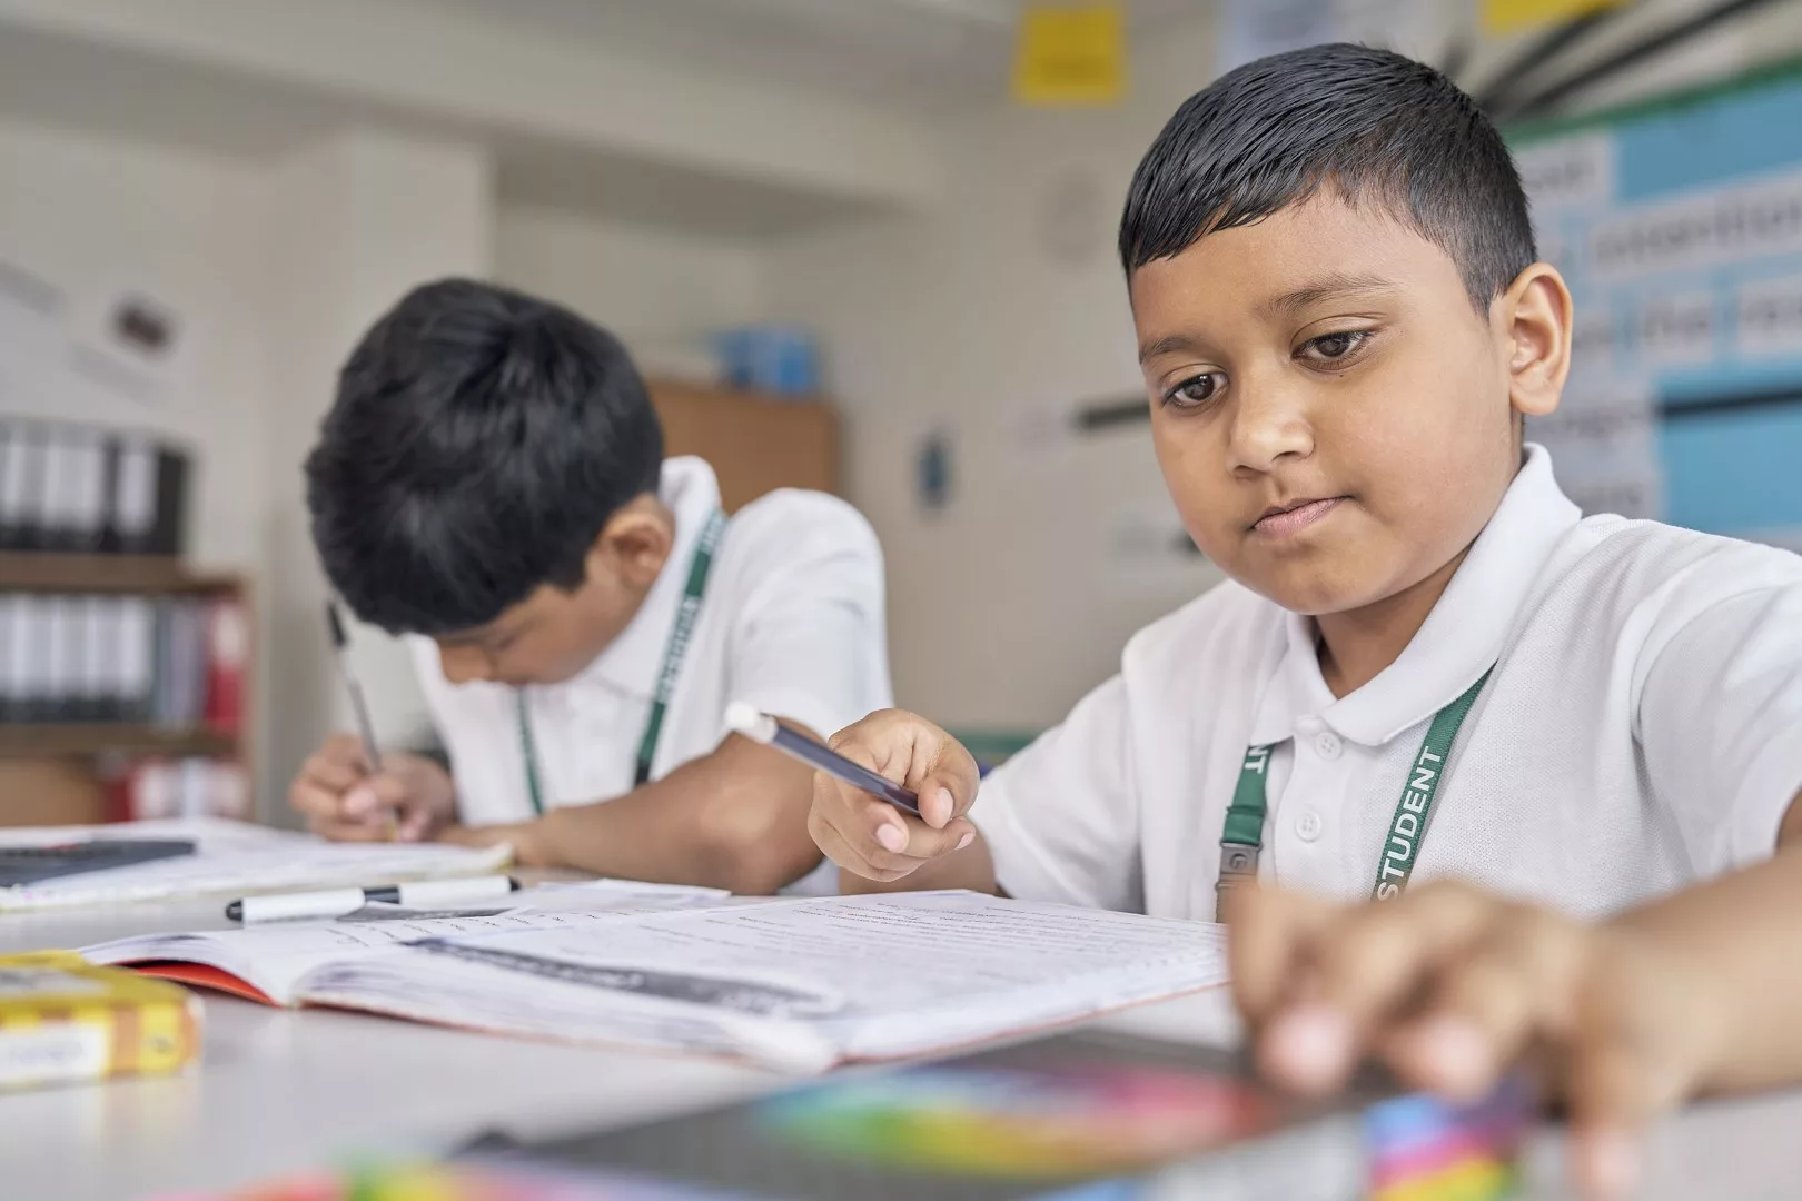
[[[618,904],[596,893],[586,909],[267,926],[85,954],[209,965],[283,1005],[796,1071],[950,1050],[1227,976],[1220,927],[1175,918],[960,891],[715,904],[618,888]]]

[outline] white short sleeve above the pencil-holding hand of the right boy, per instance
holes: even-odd
[[[1011,897],[1144,909],[1126,729],[1126,684],[1114,677],[982,781],[969,816]]]

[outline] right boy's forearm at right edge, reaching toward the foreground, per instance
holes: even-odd
[[[1777,853],[1622,915],[1615,926],[1699,972],[1719,1016],[1699,1086],[1802,1080],[1802,796]]]

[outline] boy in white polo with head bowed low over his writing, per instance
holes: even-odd
[[[339,596],[409,636],[450,754],[375,771],[332,738],[290,790],[315,832],[739,893],[820,866],[807,769],[724,711],[827,733],[890,702],[876,535],[813,492],[726,517],[607,331],[485,283],[414,290],[344,364],[306,501]]]

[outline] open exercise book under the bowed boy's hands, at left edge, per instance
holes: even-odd
[[[0,846],[58,846],[86,839],[191,839],[195,853],[0,888],[0,913],[483,875],[506,866],[514,853],[508,846],[326,843],[310,834],[222,817],[0,830]]]

